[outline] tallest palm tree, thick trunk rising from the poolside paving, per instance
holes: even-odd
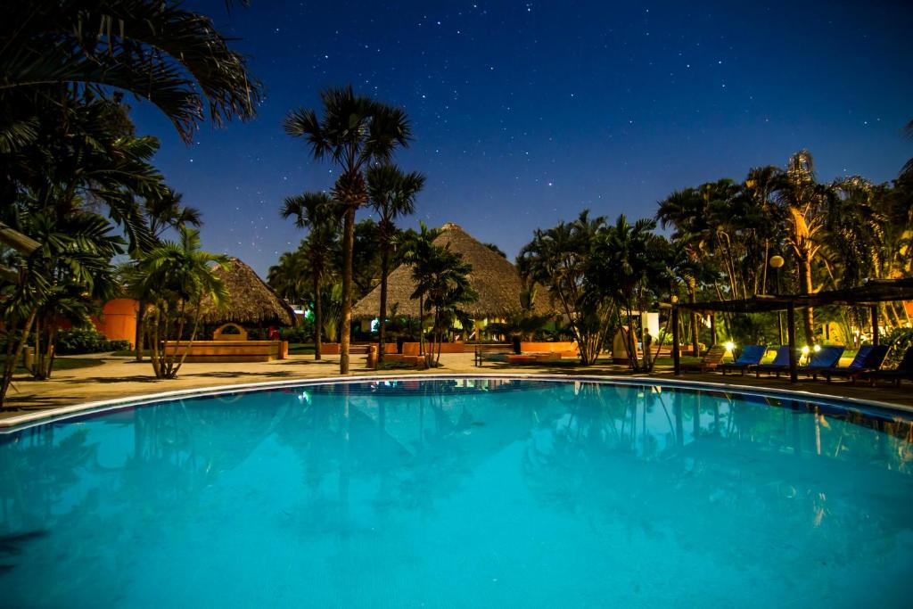
[[[323,116],[314,110],[292,110],[283,121],[292,137],[303,137],[315,160],[329,158],[340,166],[332,197],[342,206],[345,222],[342,234],[342,328],[340,373],[349,373],[349,341],[352,333],[352,249],[355,212],[368,203],[365,170],[373,163],[388,163],[397,146],[412,139],[403,110],[387,106],[352,87],[321,91]]]

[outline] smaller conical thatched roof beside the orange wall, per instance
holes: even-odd
[[[230,301],[224,310],[215,310],[212,299],[203,299],[200,320],[209,325],[233,322],[241,326],[293,326],[295,311],[280,299],[253,268],[237,258],[229,258],[228,268],[215,268],[215,276],[228,289]]]

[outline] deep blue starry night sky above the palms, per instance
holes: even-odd
[[[205,125],[192,146],[131,102],[138,131],[162,140],[169,184],[203,211],[206,249],[265,276],[297,247],[282,199],[336,174],[281,121],[349,83],[412,121],[396,161],[427,184],[404,226],[456,222],[511,259],[534,228],[584,207],[652,216],[675,189],[802,148],[821,180],[884,182],[913,156],[913,4],[383,4],[185,3],[242,38],[267,94],[257,120]]]

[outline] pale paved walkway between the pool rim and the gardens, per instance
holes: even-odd
[[[85,356],[80,356],[85,357]],[[0,412],[0,419],[37,411],[51,411],[62,406],[97,402],[135,395],[155,394],[166,391],[198,389],[207,386],[240,383],[265,383],[313,378],[341,378],[339,356],[326,356],[320,362],[311,355],[293,355],[288,360],[249,363],[185,363],[176,379],[159,380],[152,374],[152,364],[147,360],[135,362],[129,357],[114,357],[110,354],[96,356],[100,365],[76,370],[59,371],[47,381],[35,381],[26,375],[17,376],[14,386],[7,394],[7,407],[15,410]],[[560,364],[509,366],[504,363],[488,362],[479,368],[473,365],[472,353],[441,355],[441,368],[418,373],[551,373],[578,375],[630,376],[632,373],[622,366],[600,364],[580,366],[564,361]],[[412,370],[373,371],[365,368],[365,358],[356,355],[352,359],[352,376],[356,375],[403,375],[416,373]],[[669,369],[660,369],[653,378],[676,378]],[[846,382],[824,383],[801,381],[795,385],[788,380],[753,375],[723,376],[719,373],[687,374],[686,381],[707,383],[730,383],[733,385],[758,386],[766,389],[786,389],[813,394],[851,397],[861,400],[887,402],[913,408],[913,391],[910,384],[900,388],[881,385],[876,388],[863,383],[857,386]]]

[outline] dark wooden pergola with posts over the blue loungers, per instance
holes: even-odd
[[[868,307],[872,311],[872,341],[878,344],[878,304],[913,300],[913,278],[902,279],[866,279],[866,283],[857,288],[834,289],[815,294],[791,294],[781,296],[754,296],[750,299],[712,300],[708,302],[676,303],[672,307],[672,361],[675,373],[681,373],[680,331],[678,329],[678,311],[694,310],[710,315],[711,335],[716,340],[714,314],[728,313],[765,313],[786,311],[786,335],[790,346],[790,382],[799,380],[799,359],[796,355],[795,311],[808,307],[837,305],[845,307]]]

